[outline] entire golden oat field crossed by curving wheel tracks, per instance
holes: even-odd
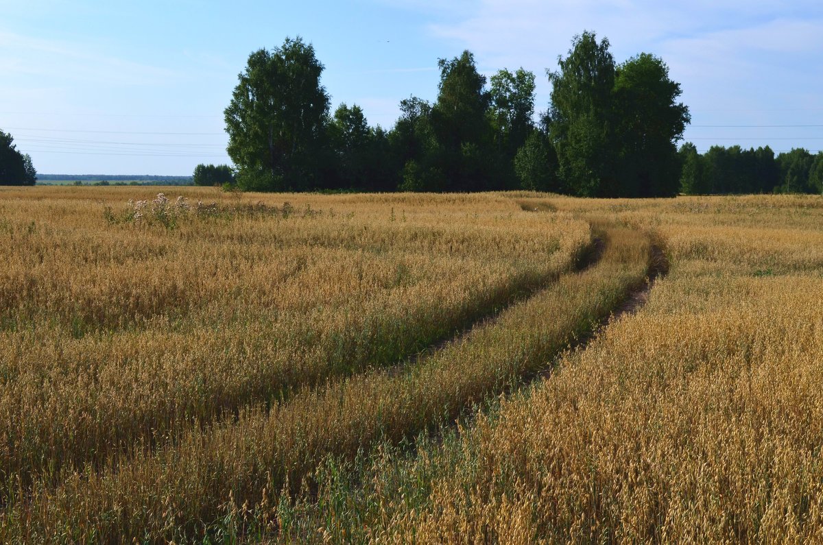
[[[0,189],[2,543],[823,540],[823,198],[156,191]]]

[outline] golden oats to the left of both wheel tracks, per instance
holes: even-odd
[[[0,193],[7,479],[56,482],[64,466],[394,365],[551,282],[589,239],[569,214],[500,198],[261,196],[238,209],[215,190],[186,194],[192,209],[169,229],[106,221],[105,204],[127,210],[119,189]],[[195,212],[207,198],[219,213]]]

